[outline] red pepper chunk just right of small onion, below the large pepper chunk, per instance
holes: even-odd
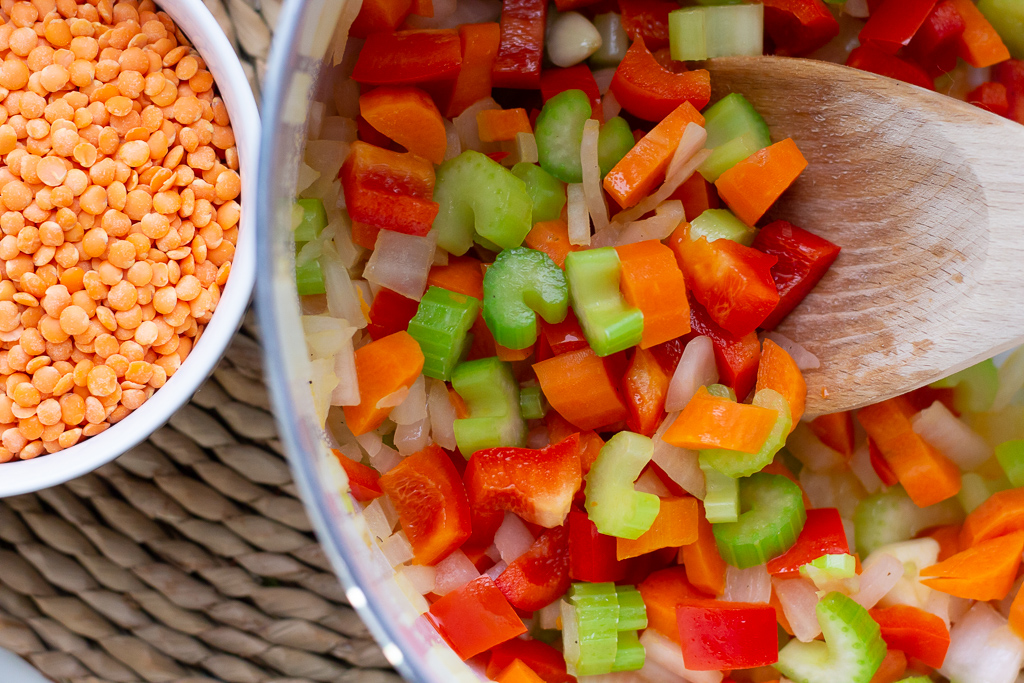
[[[516,609],[531,612],[569,590],[569,529],[563,524],[541,535],[495,580]]]

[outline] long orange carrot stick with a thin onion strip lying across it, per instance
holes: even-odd
[[[672,156],[688,124],[703,125],[703,117],[683,102],[665,117],[604,176],[604,189],[618,206],[628,209],[650,194],[665,178]]]

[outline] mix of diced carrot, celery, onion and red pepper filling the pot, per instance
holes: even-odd
[[[1018,680],[1024,351],[804,416],[817,358],[773,330],[841,245],[771,212],[800,140],[687,62],[813,54],[1024,123],[1022,22],[364,0],[294,211],[310,387],[456,654],[501,683]]]

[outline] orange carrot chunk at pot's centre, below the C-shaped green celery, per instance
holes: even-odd
[[[597,429],[630,416],[618,382],[589,346],[536,362],[534,372],[551,407],[580,429]]]

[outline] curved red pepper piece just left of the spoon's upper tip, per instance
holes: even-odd
[[[663,67],[637,38],[615,69],[611,92],[623,109],[645,121],[660,121],[683,102],[701,110],[711,100],[711,75],[705,69],[682,74]]]

